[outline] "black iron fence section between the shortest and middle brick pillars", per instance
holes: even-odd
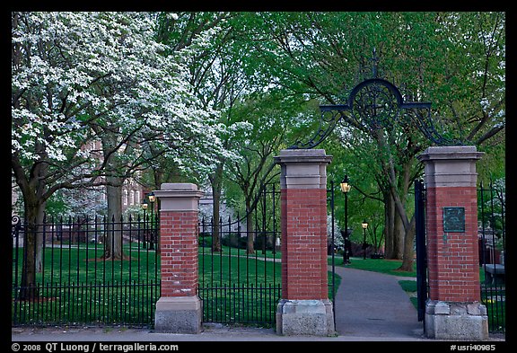
[[[255,211],[199,223],[203,322],[273,326],[281,297],[279,191],[265,188]]]

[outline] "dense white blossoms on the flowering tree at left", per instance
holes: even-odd
[[[179,141],[196,137],[223,153],[215,111],[202,108],[188,84],[181,53],[164,57],[147,13],[19,13],[12,43],[12,153],[36,161],[66,163],[78,153],[92,126],[118,133],[161,133]],[[170,14],[177,19],[177,14]],[[192,48],[203,47],[203,33]],[[144,137],[143,135],[139,135]],[[136,135],[137,137],[137,135]],[[166,141],[160,142],[167,148]],[[169,151],[181,154],[187,145]],[[38,152],[39,151],[39,152]],[[73,153],[75,151],[75,153]],[[120,150],[119,152],[122,152]],[[70,163],[70,161],[68,161]]]

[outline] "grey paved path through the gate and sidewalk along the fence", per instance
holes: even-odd
[[[126,328],[13,328],[13,341],[435,341],[423,336],[423,323],[399,278],[336,267],[342,278],[336,294],[333,337],[279,336],[274,329],[206,324],[199,334],[156,333]],[[410,278],[408,278],[410,279]]]

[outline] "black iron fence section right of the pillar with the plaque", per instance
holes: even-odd
[[[486,305],[488,330],[506,328],[506,208],[504,182],[478,189],[478,245],[481,300]]]

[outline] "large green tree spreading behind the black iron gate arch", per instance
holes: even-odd
[[[504,13],[247,13],[245,18],[241,35],[253,40],[250,56],[293,94],[325,104],[344,101],[368,78],[358,69],[372,66],[376,49],[379,75],[399,86],[407,100],[432,101],[431,118],[444,137],[479,149],[503,141]],[[341,121],[338,141],[374,164],[363,173],[377,173],[388,255],[403,258],[401,269],[410,269],[414,221],[408,193],[422,172],[416,155],[432,142],[404,121],[376,129],[354,114],[343,114]],[[348,144],[351,140],[355,143]]]

